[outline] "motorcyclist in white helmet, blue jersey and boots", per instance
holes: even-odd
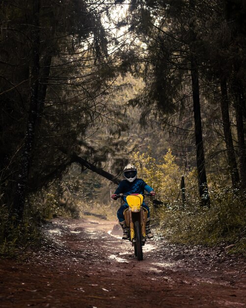
[[[114,194],[111,195],[111,198],[114,200],[118,199],[117,194],[124,193],[124,194],[131,194],[131,193],[140,193],[143,194],[144,190],[150,193],[151,196],[155,196],[155,191],[152,187],[147,185],[142,179],[137,179],[137,168],[132,165],[128,164],[124,170],[123,174],[125,180],[121,181],[115,190]],[[117,217],[119,219],[119,223],[123,229],[123,240],[129,239],[129,228],[126,225],[126,221],[124,218],[124,211],[128,208],[128,204],[126,202],[126,197],[122,197],[125,203],[118,209]],[[150,212],[149,207],[146,203],[142,203],[144,209],[147,210],[147,222],[146,222],[146,236],[151,239],[153,235],[150,231]]]

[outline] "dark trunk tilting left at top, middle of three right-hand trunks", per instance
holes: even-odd
[[[221,115],[223,122],[224,139],[226,144],[231,181],[232,185],[235,187],[239,183],[239,173],[238,173],[236,155],[234,151],[232,134],[231,134],[227,85],[226,85],[226,79],[223,77],[220,78],[220,89],[221,89],[220,108],[221,108]]]

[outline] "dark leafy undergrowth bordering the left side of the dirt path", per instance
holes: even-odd
[[[43,241],[42,227],[52,218],[79,217],[76,204],[63,204],[56,188],[54,185],[42,193],[30,195],[23,219],[18,223],[5,205],[0,207],[0,257],[25,257],[26,251],[38,248]]]

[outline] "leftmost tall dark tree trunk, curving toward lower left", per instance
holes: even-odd
[[[25,136],[24,150],[20,161],[20,172],[17,178],[16,191],[13,200],[13,211],[16,221],[23,217],[26,199],[27,179],[31,161],[31,153],[35,139],[35,126],[37,120],[38,88],[39,88],[39,0],[33,1],[33,25],[31,25],[32,36],[32,69],[30,79],[30,104]]]

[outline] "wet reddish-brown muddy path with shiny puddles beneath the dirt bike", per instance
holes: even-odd
[[[245,258],[156,239],[138,262],[114,225],[53,220],[39,251],[0,260],[0,307],[246,307]]]

